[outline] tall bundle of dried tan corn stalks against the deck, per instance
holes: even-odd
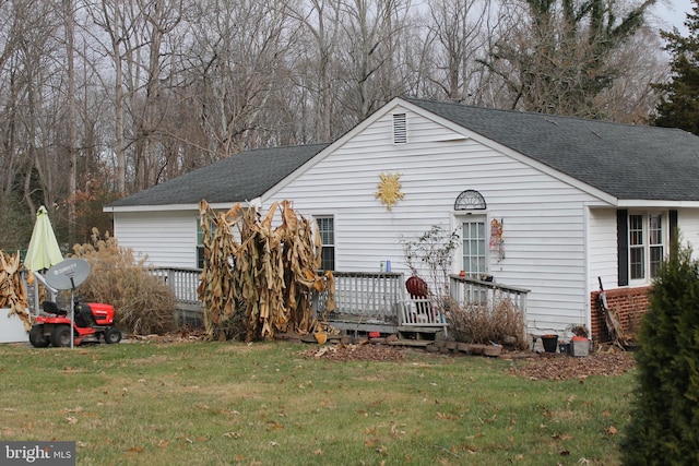
[[[199,208],[204,232],[199,297],[210,338],[229,338],[236,316],[242,318],[248,340],[322,327],[312,319],[311,292],[325,290],[332,274],[330,279],[316,275],[319,240],[289,201],[274,203],[263,218],[240,204],[215,213],[202,201]],[[282,224],[275,228],[277,210]]]

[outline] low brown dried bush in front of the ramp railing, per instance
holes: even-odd
[[[460,306],[450,302],[446,314],[458,342],[493,342],[518,349],[526,348],[524,315],[510,299],[497,301],[493,309],[479,303]]]

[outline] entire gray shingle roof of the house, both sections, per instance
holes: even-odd
[[[617,199],[699,201],[699,136],[686,131],[405,100]],[[247,151],[109,206],[249,201],[327,146]]]

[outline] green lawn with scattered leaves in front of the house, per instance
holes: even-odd
[[[76,441],[80,465],[619,463],[632,374],[534,381],[481,357],[305,349],[3,346],[0,438]]]

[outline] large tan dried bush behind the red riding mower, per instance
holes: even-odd
[[[137,261],[132,250],[120,248],[115,238],[100,239],[94,228],[92,243],[76,244],[73,251],[92,267],[79,288],[80,296],[112,304],[121,331],[146,335],[175,328],[175,295],[149,273],[145,259]]]

